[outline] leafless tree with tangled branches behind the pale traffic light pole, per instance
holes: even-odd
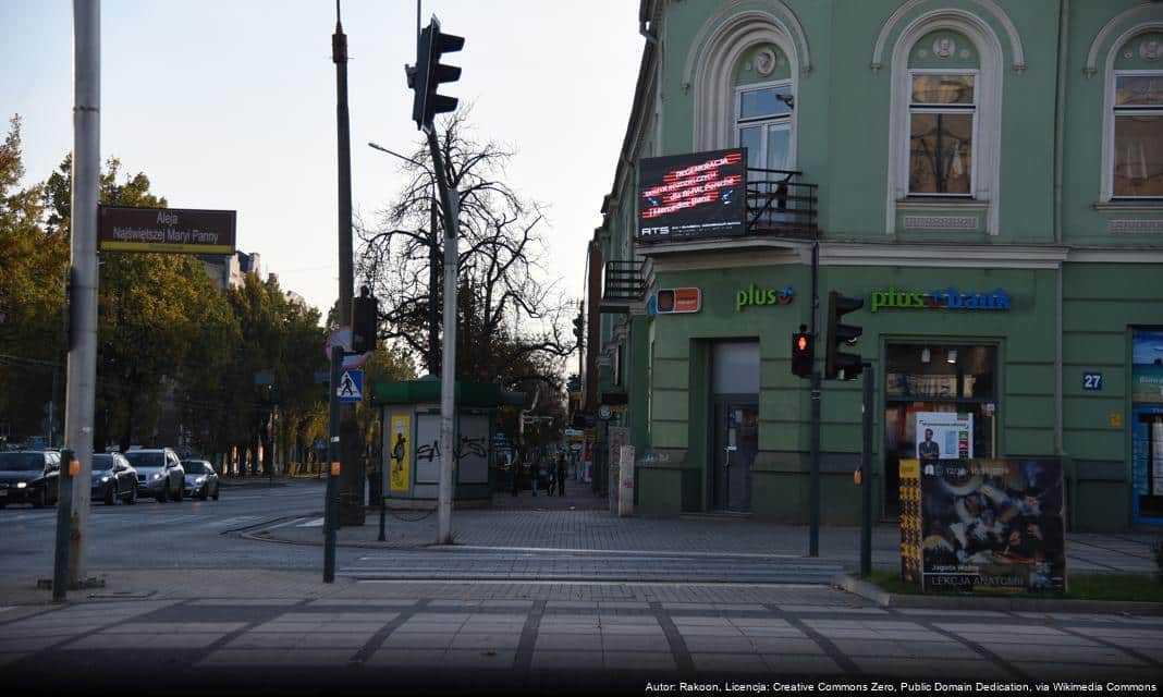
[[[544,276],[542,211],[504,182],[513,152],[472,140],[468,109],[443,126],[448,182],[461,204],[457,377],[506,386],[538,378],[559,389],[561,360],[577,348],[561,328],[573,306],[556,284],[538,279]],[[412,159],[402,170],[407,183],[380,212],[377,226],[357,223],[357,271],[380,298],[381,335],[402,341],[436,372],[440,355],[429,353],[429,310],[438,312],[442,300],[438,280],[429,289],[429,270],[436,264],[435,278],[443,278],[438,244],[444,221],[438,206],[434,213],[433,164],[423,142]],[[434,222],[441,232],[435,241]]]

